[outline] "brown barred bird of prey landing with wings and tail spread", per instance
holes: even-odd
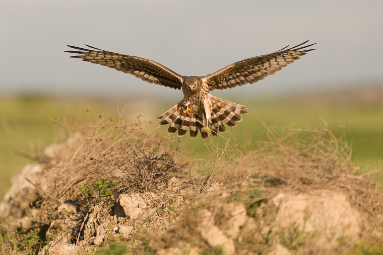
[[[226,131],[223,123],[229,127],[235,127],[236,122],[242,120],[239,114],[248,113],[247,106],[214,97],[209,94],[210,91],[252,84],[274,74],[282,67],[299,59],[299,56],[314,50],[307,49],[314,45],[304,45],[307,42],[291,48],[286,46],[271,54],[235,62],[206,76],[182,76],[153,60],[105,51],[89,45],[86,46],[91,49],[68,45],[80,51],[66,52],[79,54],[71,57],[130,73],[149,83],[182,89],[183,99],[169,111],[157,117],[162,119],[160,126],[170,123],[167,132],[173,134],[178,130],[178,136],[183,136],[189,129],[192,138],[195,138],[200,131],[202,138],[206,139],[209,131],[213,136],[217,136],[218,132]]]

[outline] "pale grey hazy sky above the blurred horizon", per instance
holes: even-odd
[[[381,0],[2,0],[0,94],[181,97],[179,91],[69,58],[63,52],[68,44],[152,59],[181,75],[206,75],[308,39],[317,50],[226,93],[283,94],[366,82],[383,87],[382,13]]]

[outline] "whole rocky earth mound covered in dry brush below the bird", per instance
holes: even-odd
[[[22,203],[14,195],[9,214],[3,210],[3,253],[362,254],[383,247],[381,168],[361,174],[344,135],[335,137],[325,120],[265,125],[253,151],[247,138],[211,139],[207,158],[190,159],[176,139],[122,114],[84,126],[81,116],[73,125],[57,120],[68,140],[36,162],[50,181],[35,182],[35,196]],[[302,210],[287,211],[303,200]],[[348,217],[342,211],[323,223],[339,228],[314,223],[337,206],[356,218],[340,222]]]

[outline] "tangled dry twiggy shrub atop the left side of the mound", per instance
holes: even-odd
[[[118,108],[117,108],[118,109]],[[123,108],[125,109],[125,107]],[[149,191],[166,182],[187,166],[182,164],[172,139],[160,139],[145,131],[137,119],[126,122],[119,113],[116,122],[103,114],[92,126],[65,126],[71,148],[58,166],[60,180],[52,193],[44,193],[41,206],[51,208],[56,201],[72,199],[90,205],[114,192]],[[92,201],[91,201],[91,200]]]

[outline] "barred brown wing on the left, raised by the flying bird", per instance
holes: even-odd
[[[140,78],[149,83],[159,84],[161,86],[178,90],[182,88],[183,77],[181,75],[173,72],[169,68],[166,68],[165,66],[153,60],[105,51],[89,45],[86,46],[95,50],[84,49],[70,45],[68,46],[77,50],[81,50],[65,51],[69,53],[80,54],[71,57],[81,58],[83,61],[105,65],[107,67],[114,68],[117,71],[130,73],[137,78]]]

